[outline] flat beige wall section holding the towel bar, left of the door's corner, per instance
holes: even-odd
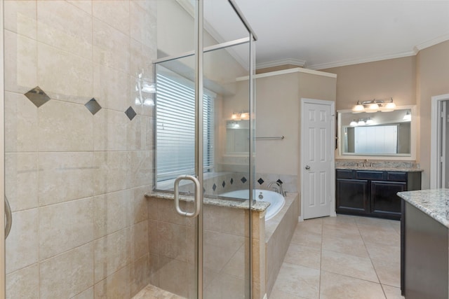
[[[297,174],[298,80],[298,73],[256,80],[256,137],[286,137],[283,140],[256,141],[256,172]]]

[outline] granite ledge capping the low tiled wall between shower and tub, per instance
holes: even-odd
[[[145,193],[145,197],[156,197],[162,198],[165,200],[174,200],[175,195],[173,193],[163,193],[163,192],[149,192]],[[185,202],[193,202],[194,197],[189,195],[180,195],[180,200]],[[204,204],[210,204],[218,207],[232,207],[235,209],[248,209],[249,201],[248,200],[225,200],[223,198],[210,198],[204,197]],[[269,207],[269,202],[256,201],[251,205],[251,209],[253,211],[265,211]]]

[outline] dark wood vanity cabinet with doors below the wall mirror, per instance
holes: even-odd
[[[335,211],[341,214],[400,219],[396,193],[421,188],[421,172],[337,169],[335,177]]]

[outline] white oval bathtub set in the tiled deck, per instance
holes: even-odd
[[[253,198],[257,201],[269,202],[269,207],[265,212],[265,221],[273,218],[276,214],[281,211],[284,204],[286,204],[286,199],[279,193],[270,190],[255,189],[255,194]],[[248,190],[235,190],[220,194],[223,197],[233,197],[239,198],[241,200],[248,200]],[[262,198],[260,198],[262,197]]]

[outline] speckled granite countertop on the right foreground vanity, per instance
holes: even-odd
[[[405,191],[398,195],[449,228],[449,189]]]

